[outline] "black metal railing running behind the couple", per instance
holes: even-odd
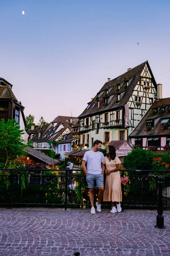
[[[81,170],[80,170],[81,171]],[[68,169],[0,169],[0,206],[90,207],[82,172]],[[76,172],[76,173],[75,173]],[[122,209],[157,209],[158,176],[163,177],[163,208],[170,208],[170,171],[122,170],[129,182],[122,184]],[[127,174],[128,173],[128,174]],[[98,189],[94,189],[97,201]],[[102,208],[111,203],[102,202]]]

